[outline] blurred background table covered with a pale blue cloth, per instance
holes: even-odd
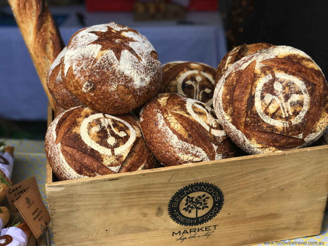
[[[146,36],[162,65],[193,61],[216,69],[227,52],[218,11],[186,12],[183,21],[134,21],[133,12],[88,12],[84,5],[51,7],[50,11],[65,45],[76,31],[113,21]],[[48,99],[11,9],[5,6],[0,12],[0,116],[10,120],[46,120]]]

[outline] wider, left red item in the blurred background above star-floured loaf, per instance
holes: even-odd
[[[133,11],[136,0],[85,0],[87,10],[93,11]]]

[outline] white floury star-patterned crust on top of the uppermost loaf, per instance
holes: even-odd
[[[73,66],[74,74],[83,81],[84,78],[82,77],[83,75],[80,74],[80,71],[91,69],[91,64],[88,60],[79,63],[81,62],[81,57],[87,57],[88,59],[93,58],[96,60],[96,64],[99,65],[99,67],[111,71],[112,64],[108,64],[108,62],[105,61],[106,58],[110,58],[108,60],[113,62],[113,67],[119,69],[129,77],[132,77],[137,87],[147,85],[150,81],[149,72],[142,67],[135,66],[135,60],[138,60],[138,63],[144,63],[145,61],[143,61],[141,57],[153,51],[154,47],[149,42],[145,42],[143,36],[130,30],[131,29],[128,27],[119,27],[112,22],[106,25],[92,26],[78,32],[70,41],[70,47],[65,54],[64,74],[67,75],[69,67]],[[110,50],[111,47],[106,46],[106,42],[103,42],[102,45],[96,44],[95,41],[98,41],[99,33],[114,33],[115,31],[120,32],[122,39],[124,38],[124,40],[126,40],[128,38],[128,43],[122,42],[121,39],[116,39],[120,44],[124,44],[124,48],[128,50],[122,49],[122,47],[119,51]],[[105,57],[102,58],[102,56]],[[144,63],[144,65],[147,66],[148,64]],[[135,69],[141,69],[141,71],[136,73]]]

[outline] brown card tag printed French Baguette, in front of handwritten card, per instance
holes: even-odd
[[[32,186],[15,202],[15,206],[31,228],[34,236],[38,238],[43,233],[40,225],[46,228],[47,224],[44,221],[49,224],[50,215],[42,199],[31,188]]]

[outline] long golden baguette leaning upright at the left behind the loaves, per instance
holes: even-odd
[[[45,0],[8,0],[8,2],[51,107],[54,109],[55,101],[48,90],[46,79],[52,62],[64,48],[57,25]]]

